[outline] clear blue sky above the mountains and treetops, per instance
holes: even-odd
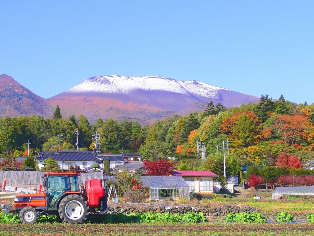
[[[313,1],[2,1],[0,74],[49,98],[160,75],[314,101]]]

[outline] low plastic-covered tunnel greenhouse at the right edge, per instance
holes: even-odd
[[[283,198],[314,198],[314,186],[276,187],[273,191],[273,199]]]

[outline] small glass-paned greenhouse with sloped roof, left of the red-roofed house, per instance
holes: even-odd
[[[189,186],[181,176],[141,176],[141,180],[149,189],[150,200],[190,199]]]

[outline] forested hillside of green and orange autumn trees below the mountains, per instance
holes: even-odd
[[[78,147],[92,149],[92,134],[100,133],[102,151],[121,153],[139,151],[144,158],[176,156],[178,169],[211,170],[222,174],[222,143],[230,141],[227,153],[228,173],[239,166],[279,166],[309,168],[314,163],[314,105],[273,101],[262,96],[251,103],[226,109],[222,104],[207,105],[206,112],[174,115],[152,126],[138,122],[98,119],[90,125],[83,115],[61,117],[57,107],[54,117],[24,116],[0,120],[0,151],[3,157],[22,155],[30,140],[31,151],[55,151],[60,132],[62,149],[74,149],[75,131],[80,131]],[[196,158],[196,141],[206,145],[206,161]],[[217,147],[220,148],[217,153]],[[174,148],[176,146],[176,153]]]

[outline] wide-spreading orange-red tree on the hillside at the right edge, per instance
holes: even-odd
[[[282,138],[285,143],[294,144],[309,139],[312,124],[303,115],[279,115],[275,118],[272,126],[263,130],[265,138]]]

